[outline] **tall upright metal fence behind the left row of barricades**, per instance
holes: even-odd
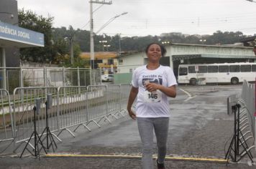
[[[101,84],[101,69],[65,67],[0,67],[0,88],[88,86]]]

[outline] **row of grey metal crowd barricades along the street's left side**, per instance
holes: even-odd
[[[13,92],[12,100],[8,91],[0,90],[2,112],[0,143],[3,140],[13,140],[15,144],[19,143],[17,146],[19,148],[22,143],[29,140],[34,132],[34,125],[40,135],[46,134],[44,131],[47,125],[58,140],[63,131],[68,131],[75,137],[73,132],[81,125],[90,131],[88,124],[91,122],[101,127],[99,123],[102,120],[111,122],[110,116],[114,119],[124,116],[129,90],[130,84],[17,87]],[[52,95],[52,106],[47,109],[49,94]],[[35,100],[40,100],[40,107]],[[38,108],[40,111],[35,114]],[[32,144],[29,145],[33,148]]]

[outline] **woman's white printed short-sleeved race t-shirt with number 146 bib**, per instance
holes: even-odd
[[[145,82],[162,84],[165,87],[176,85],[173,69],[160,65],[157,69],[150,70],[147,66],[137,67],[132,74],[132,86],[139,87],[137,95],[137,117],[170,117],[168,96],[160,90],[148,92]]]

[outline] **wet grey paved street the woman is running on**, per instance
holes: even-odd
[[[233,130],[233,116],[227,115],[227,97],[240,93],[241,85],[219,87],[178,87],[178,96],[170,100],[168,155],[196,158],[224,158]],[[199,92],[200,91],[200,92]],[[57,153],[75,155],[141,155],[137,122],[128,116],[102,121],[101,128],[93,123],[92,131],[79,127],[72,137],[65,132]],[[21,153],[24,145],[17,150]],[[156,149],[155,149],[156,152]],[[255,153],[253,153],[255,154]],[[140,168],[137,158],[44,157],[33,158],[26,151],[22,159],[14,154],[0,158],[3,168]],[[255,156],[254,156],[255,158]],[[166,160],[166,168],[256,168],[247,164]]]

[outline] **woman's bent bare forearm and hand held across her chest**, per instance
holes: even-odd
[[[176,86],[170,86],[165,87],[161,84],[155,84],[155,83],[148,83],[145,85],[147,91],[153,92],[155,90],[160,90],[161,92],[165,93],[165,95],[168,95],[168,97],[176,97]]]

